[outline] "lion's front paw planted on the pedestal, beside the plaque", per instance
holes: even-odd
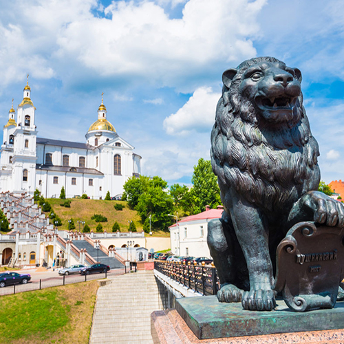
[[[244,310],[273,310],[276,307],[273,290],[250,290],[244,292],[241,305]]]

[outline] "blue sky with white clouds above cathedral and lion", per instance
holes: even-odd
[[[38,135],[84,142],[104,92],[142,173],[190,184],[222,72],[275,56],[303,74],[322,179],[344,180],[343,12],[332,0],[2,1],[0,121],[30,73]]]

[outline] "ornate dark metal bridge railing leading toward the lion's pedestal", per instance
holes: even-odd
[[[219,278],[214,266],[154,261],[154,269],[203,295],[216,295],[219,290]]]

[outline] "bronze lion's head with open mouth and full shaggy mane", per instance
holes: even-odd
[[[211,134],[220,186],[269,211],[316,189],[319,149],[302,105],[299,69],[259,57],[226,70],[222,80]]]

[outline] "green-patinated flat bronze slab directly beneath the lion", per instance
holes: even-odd
[[[200,339],[255,336],[314,330],[336,330],[344,326],[344,302],[329,310],[292,312],[277,299],[272,312],[243,310],[241,303],[219,303],[217,297],[177,299],[175,309]]]

